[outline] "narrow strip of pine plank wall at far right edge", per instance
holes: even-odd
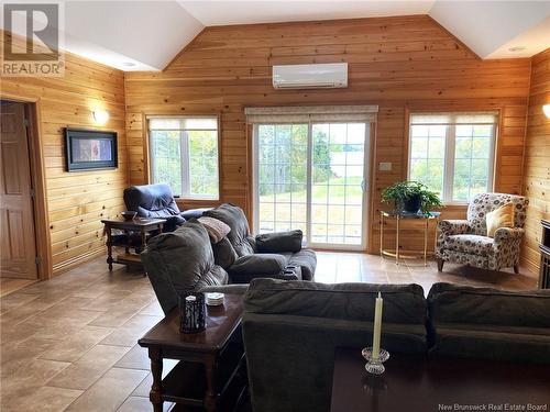
[[[543,104],[550,104],[550,48],[532,57],[525,145],[524,186],[530,203],[522,259],[532,269],[540,265],[540,220],[550,219],[550,119],[542,113]]]

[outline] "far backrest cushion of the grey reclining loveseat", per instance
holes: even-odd
[[[219,208],[206,211],[204,215],[218,219],[231,227],[228,238],[239,256],[256,252],[254,237],[250,235],[249,221],[241,208],[223,203]]]

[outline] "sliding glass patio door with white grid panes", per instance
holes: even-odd
[[[369,125],[255,124],[255,231],[299,229],[312,247],[363,249]]]

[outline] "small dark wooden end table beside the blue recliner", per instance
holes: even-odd
[[[127,221],[122,219],[106,219],[102,220],[101,223],[105,224],[105,231],[107,233],[107,264],[109,265],[109,271],[111,271],[112,264],[138,266],[142,268],[143,265],[140,255],[130,252],[132,247],[135,247],[130,244],[130,237],[133,233],[138,233],[141,237],[141,247],[145,247],[147,235],[155,231],[162,232],[166,220],[135,218],[131,221]],[[112,234],[113,230],[124,232],[125,241],[116,241]],[[116,246],[124,247],[125,253],[118,254],[113,257],[112,248]]]

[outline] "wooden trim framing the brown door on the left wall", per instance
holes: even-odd
[[[46,179],[44,165],[44,145],[40,131],[40,99],[29,99],[26,97],[0,93],[0,100],[11,100],[25,105],[25,119],[29,120],[26,137],[29,140],[29,156],[31,164],[31,185],[34,189],[33,215],[34,236],[36,244],[36,255],[38,279],[50,279],[53,276],[52,265],[52,242],[50,237],[50,216],[46,198]]]

